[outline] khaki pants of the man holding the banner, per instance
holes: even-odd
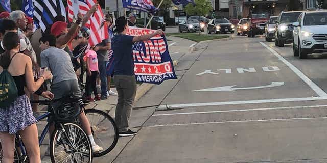
[[[114,84],[118,92],[118,103],[115,112],[115,122],[119,132],[125,132],[129,127],[129,120],[136,96],[135,76],[115,75]]]

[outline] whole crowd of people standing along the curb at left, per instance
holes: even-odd
[[[126,17],[117,18],[115,31],[112,31],[113,20],[106,14],[104,23],[107,23],[110,37],[87,49],[89,29],[85,24],[98,7],[98,4],[94,5],[84,16],[78,14],[71,23],[58,15],[44,32],[34,30],[33,19],[22,11],[0,13],[0,72],[8,70],[18,92],[18,97],[8,108],[0,106],[3,162],[13,162],[14,139],[18,132],[25,143],[30,162],[41,162],[35,125],[38,105],[30,103],[30,100],[39,100],[39,96],[52,100],[73,94],[85,97],[84,102],[92,102],[118,95],[115,122],[119,135],[125,137],[137,133],[129,129],[136,95],[132,44],[162,35],[163,32],[159,30],[139,37],[126,35],[128,24],[134,25],[136,22],[134,14],[129,15],[129,23]],[[84,84],[85,75],[86,90],[82,95],[80,86]],[[118,93],[110,89],[111,77]],[[47,86],[49,83],[50,90]],[[98,92],[99,84],[101,92]],[[91,97],[92,93],[94,98]],[[58,106],[55,104],[54,107]],[[94,141],[85,113],[81,112],[78,118],[94,152],[103,150]],[[53,129],[51,126],[49,133]],[[45,155],[49,155],[49,147]]]

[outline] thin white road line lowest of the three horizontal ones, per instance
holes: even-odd
[[[221,122],[202,122],[202,123],[180,123],[180,124],[164,124],[153,125],[146,127],[165,127],[165,126],[189,126],[189,125],[203,125],[203,124],[219,124],[219,123],[240,123],[240,122],[267,122],[267,121],[291,121],[291,120],[311,120],[311,119],[326,119],[327,117],[315,118],[288,118],[288,119],[264,119],[264,120],[244,120],[244,121],[221,121]]]

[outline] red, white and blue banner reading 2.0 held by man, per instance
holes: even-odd
[[[130,27],[127,35],[141,36],[155,30]],[[137,82],[161,84],[168,79],[177,79],[170,58],[165,36],[133,44],[134,73]]]

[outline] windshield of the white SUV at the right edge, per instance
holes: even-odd
[[[306,14],[303,25],[327,25],[327,12]]]

